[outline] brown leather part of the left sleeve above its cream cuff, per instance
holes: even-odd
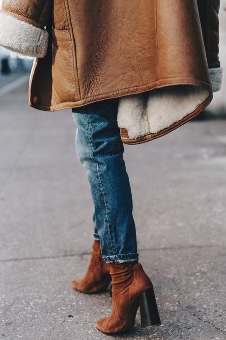
[[[1,12],[44,28],[52,17],[51,0],[3,0]]]

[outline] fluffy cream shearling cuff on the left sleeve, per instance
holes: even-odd
[[[0,13],[0,45],[19,54],[43,58],[47,53],[48,32]]]

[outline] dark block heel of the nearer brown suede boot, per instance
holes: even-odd
[[[141,294],[140,298],[141,327],[161,325],[159,311],[155,300],[154,289],[151,287]]]

